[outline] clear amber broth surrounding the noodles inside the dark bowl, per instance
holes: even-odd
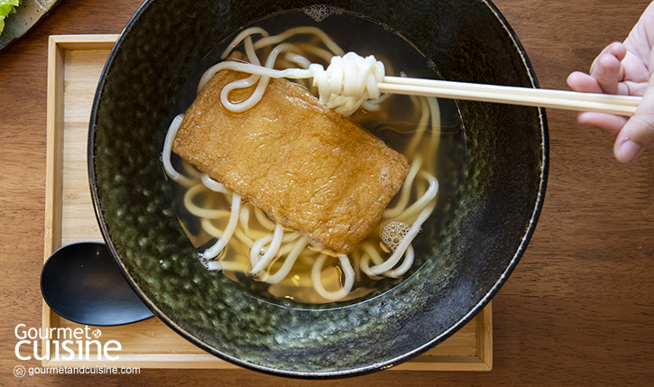
[[[416,47],[401,37],[399,33],[393,32],[387,26],[376,23],[369,18],[350,14],[337,8],[319,5],[303,10],[274,14],[244,28],[253,25],[262,27],[272,35],[295,26],[316,26],[326,32],[345,52],[355,51],[362,56],[372,54],[378,60],[382,60],[386,66],[386,75],[440,78],[433,61],[425,58]],[[236,33],[217,44],[215,49],[207,53],[205,59],[198,64],[198,68],[189,74],[188,82],[180,88],[180,93],[176,97],[173,106],[171,106],[170,120],[173,116],[186,111],[192,104],[196,97],[198,81],[202,73],[220,61],[220,54],[225,50],[227,44],[234,39]],[[345,299],[338,302],[361,300],[362,298],[380,294],[396,286],[403,279],[408,278],[412,272],[419,270],[419,267],[426,260],[438,259],[433,252],[447,233],[447,225],[456,212],[458,188],[462,186],[465,179],[465,165],[467,163],[465,158],[465,131],[455,101],[438,99],[438,106],[441,120],[440,127],[428,126],[428,131],[440,132],[438,152],[422,156],[423,160],[433,164],[432,168],[439,180],[440,189],[436,208],[412,243],[416,253],[416,261],[410,271],[400,279],[383,278],[381,280],[372,280],[363,272],[357,271],[353,290]],[[392,149],[402,153],[406,150],[412,135],[415,133],[419,116],[420,110],[416,108],[411,97],[394,95],[383,102],[382,109],[379,112],[363,114],[357,112],[351,119],[380,138]],[[170,123],[170,121],[168,122]],[[183,162],[174,154],[172,161],[173,164],[179,166],[179,170],[188,168],[188,165],[183,166]],[[180,224],[189,236],[190,243],[200,253],[208,245],[213,244],[216,239],[202,232],[198,218],[190,215],[184,207],[183,197],[186,189],[174,181],[169,181],[170,191],[172,192],[171,200],[180,219]],[[207,202],[216,202],[218,206],[229,210],[229,203],[226,203],[225,200],[220,203],[220,198],[211,198],[211,196],[212,194],[208,193],[202,198]],[[415,199],[415,194],[412,194],[411,201]],[[392,206],[393,202],[391,202],[390,207]],[[369,238],[378,239],[378,235],[370,235]],[[226,250],[226,254],[229,254],[229,250]],[[226,259],[222,255],[221,257],[221,259]],[[189,259],[196,259],[196,257],[189,257]],[[247,260],[249,261],[249,258]],[[323,299],[313,290],[310,284],[310,270],[310,263],[302,263],[302,260],[299,259],[287,278],[277,284],[255,281],[253,277],[245,272],[216,272],[216,275],[225,274],[244,289],[251,291],[256,297],[285,306],[332,302]],[[342,273],[336,264],[329,268],[326,266],[322,278],[325,281],[327,290],[336,290],[342,281]]]

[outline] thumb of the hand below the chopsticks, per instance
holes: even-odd
[[[615,139],[613,153],[618,161],[629,162],[640,152],[654,145],[654,77],[642,97],[636,113],[627,121]]]

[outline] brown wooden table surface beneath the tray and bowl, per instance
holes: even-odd
[[[646,0],[494,1],[543,88],[567,88],[604,45],[622,41]],[[246,370],[146,370],[132,376],[15,378],[14,328],[41,326],[47,41],[118,33],[140,0],[64,0],[0,51],[0,384],[304,385]],[[654,380],[654,152],[613,160],[612,139],[548,111],[545,207],[527,253],[493,299],[492,372],[385,371],[314,385],[645,385]]]

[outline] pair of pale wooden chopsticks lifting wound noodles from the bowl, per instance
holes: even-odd
[[[377,84],[382,93],[443,97],[520,106],[628,115],[635,113],[641,97],[579,93],[543,88],[517,88],[436,79],[384,77]]]

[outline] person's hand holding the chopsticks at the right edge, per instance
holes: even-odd
[[[581,112],[580,124],[598,126],[615,136],[613,153],[628,162],[654,148],[654,3],[651,3],[623,42],[609,44],[595,58],[590,74],[573,72],[567,84],[585,93],[641,96],[636,113],[629,117]]]

